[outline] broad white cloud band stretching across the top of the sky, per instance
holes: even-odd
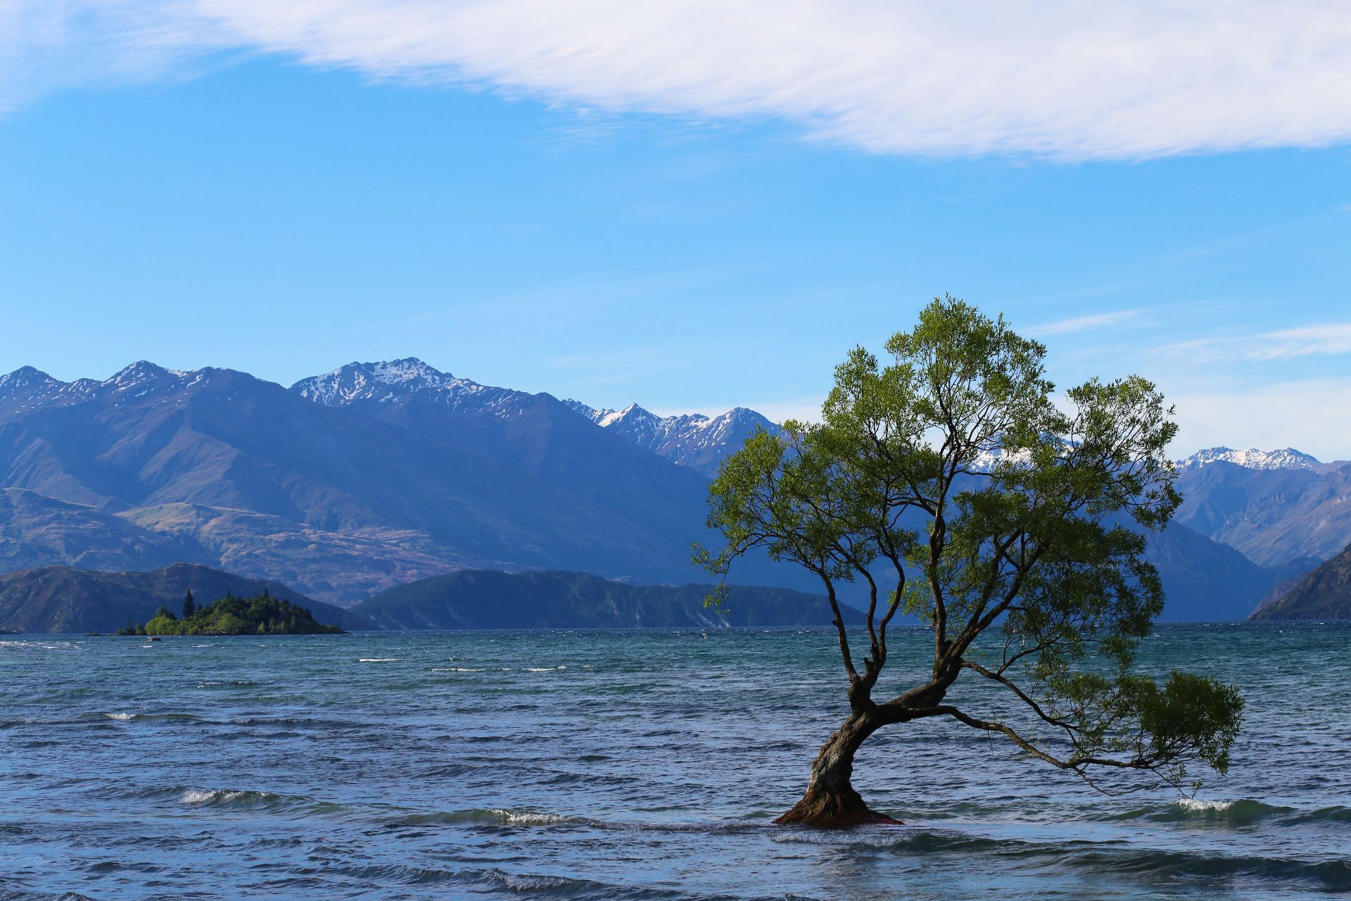
[[[786,122],[875,153],[1139,159],[1351,138],[1343,0],[0,0],[0,109],[181,77],[222,50]]]

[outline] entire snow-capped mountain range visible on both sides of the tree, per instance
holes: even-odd
[[[0,376],[0,571],[186,562],[351,605],[463,569],[686,584],[708,480],[767,417],[481,385],[417,359],[349,363],[289,389],[149,362],[62,382]],[[1201,451],[1152,536],[1169,619],[1242,619],[1351,539],[1351,465]],[[815,590],[747,561],[742,584]],[[707,577],[705,577],[707,578]]]

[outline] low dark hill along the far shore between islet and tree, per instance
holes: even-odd
[[[386,629],[827,627],[819,594],[731,589],[725,613],[704,607],[711,585],[624,585],[582,573],[462,570],[400,585],[353,608]],[[862,621],[842,611],[848,624]]]

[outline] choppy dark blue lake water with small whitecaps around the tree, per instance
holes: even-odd
[[[1351,892],[1351,628],[1161,628],[1142,662],[1247,698],[1198,800],[924,723],[855,778],[909,825],[817,832],[769,820],[843,717],[824,631],[5,638],[0,898]]]

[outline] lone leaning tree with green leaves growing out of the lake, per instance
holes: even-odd
[[[850,785],[854,755],[882,727],[935,717],[1002,736],[1090,785],[1109,769],[1173,785],[1196,762],[1224,773],[1243,712],[1236,689],[1131,671],[1163,609],[1146,532],[1181,500],[1163,457],[1177,427],[1154,385],[1092,380],[1061,409],[1046,349],[952,297],[886,351],[884,366],[855,349],[820,424],[758,432],[711,488],[708,524],[725,546],[697,557],[725,575],[762,548],[813,573],[848,677],[848,717],[777,823],[889,821]],[[866,634],[844,628],[843,582],[866,590]],[[886,629],[900,612],[932,629],[934,666],[917,685],[884,690]],[[948,702],[963,677],[988,690]]]

